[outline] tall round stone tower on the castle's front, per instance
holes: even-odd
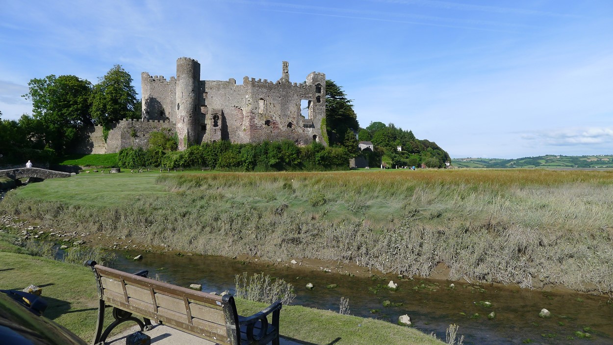
[[[191,58],[177,59],[177,136],[179,150],[196,143],[200,94],[200,64]]]

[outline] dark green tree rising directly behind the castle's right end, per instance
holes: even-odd
[[[351,99],[347,98],[343,88],[333,80],[326,80],[326,126],[329,144],[342,144],[350,128],[358,130],[356,112]]]

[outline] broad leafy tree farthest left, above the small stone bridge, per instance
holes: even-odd
[[[22,117],[20,123],[27,123],[30,138],[63,153],[78,139],[78,130],[92,124],[91,83],[76,76],[51,74],[31,79],[28,86],[29,92],[23,97],[32,101],[33,118]]]

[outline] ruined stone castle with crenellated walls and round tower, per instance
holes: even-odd
[[[200,64],[179,58],[176,78],[166,80],[143,72],[141,83],[143,120],[115,123],[106,143],[98,139],[102,138],[101,130],[91,131],[90,144],[83,145],[86,153],[119,152],[124,147],[146,149],[149,134],[159,130],[176,133],[180,150],[218,140],[257,143],[289,139],[308,145],[322,138],[326,75],[312,72],[306,83],[292,83],[285,61],[276,82],[249,77],[244,77],[242,84],[235,79],[200,80]],[[301,101],[308,102],[308,118],[302,115],[307,109],[301,109]]]

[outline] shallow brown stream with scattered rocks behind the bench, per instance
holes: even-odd
[[[149,276],[172,284],[188,286],[202,284],[206,292],[229,290],[234,293],[234,276],[248,272],[270,274],[290,282],[296,298],[292,304],[338,311],[340,298],[349,298],[351,314],[396,322],[408,314],[413,325],[424,333],[435,332],[444,340],[449,324],[459,325],[464,344],[613,344],[613,305],[607,297],[582,293],[542,292],[518,287],[478,286],[468,283],[431,279],[400,280],[395,276],[350,277],[323,271],[308,271],[283,265],[244,263],[225,257],[144,254],[133,262],[131,252],[117,252],[115,268],[132,272],[148,269]],[[384,289],[390,280],[398,284],[397,291]],[[313,290],[305,289],[307,283]],[[326,289],[338,284],[335,289]],[[384,307],[383,302],[402,303]],[[490,302],[491,306],[484,306]],[[538,316],[541,309],[552,316]],[[371,309],[380,309],[372,313]],[[495,312],[490,320],[487,315]],[[476,317],[474,314],[479,314]],[[589,328],[586,328],[589,327]],[[590,339],[578,338],[576,331],[590,333]],[[570,337],[574,339],[570,339]],[[528,342],[530,339],[530,342]]]

